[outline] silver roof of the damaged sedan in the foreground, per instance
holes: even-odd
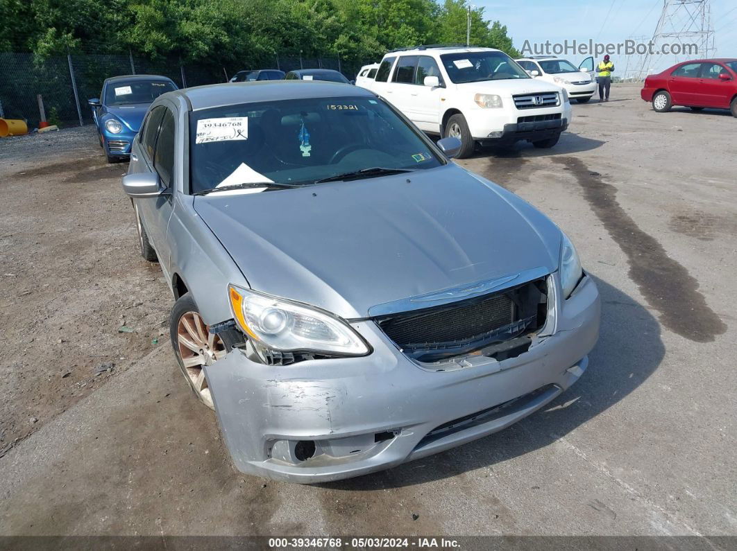
[[[192,105],[192,110],[208,109],[223,105],[241,103],[278,102],[282,99],[301,98],[335,98],[344,96],[368,97],[376,96],[373,92],[341,82],[325,82],[322,80],[260,80],[254,82],[229,82],[228,84],[212,84],[184,88],[174,92],[161,94],[164,96],[182,96]]]

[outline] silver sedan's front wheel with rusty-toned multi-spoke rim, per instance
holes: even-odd
[[[174,303],[169,317],[169,336],[179,369],[195,396],[214,409],[212,394],[202,366],[211,366],[232,349],[231,332],[213,335],[200,316],[192,295],[185,293]],[[184,358],[183,358],[184,355]]]

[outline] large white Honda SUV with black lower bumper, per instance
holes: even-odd
[[[430,134],[461,140],[458,157],[477,143],[531,141],[552,147],[570,121],[565,90],[532,79],[503,51],[419,46],[390,51],[363,84]]]

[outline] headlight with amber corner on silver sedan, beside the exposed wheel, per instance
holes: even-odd
[[[330,313],[234,285],[228,297],[240,328],[270,349],[343,356],[369,352],[363,338]]]

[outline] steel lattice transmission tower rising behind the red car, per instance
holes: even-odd
[[[648,52],[643,57],[640,68],[642,79],[652,71],[662,70],[681,61],[711,57],[715,48],[710,0],[663,0],[663,11],[657,20],[652,43],[654,53]],[[685,49],[691,44],[699,49],[698,54]],[[680,51],[662,53],[665,45],[668,51]]]

